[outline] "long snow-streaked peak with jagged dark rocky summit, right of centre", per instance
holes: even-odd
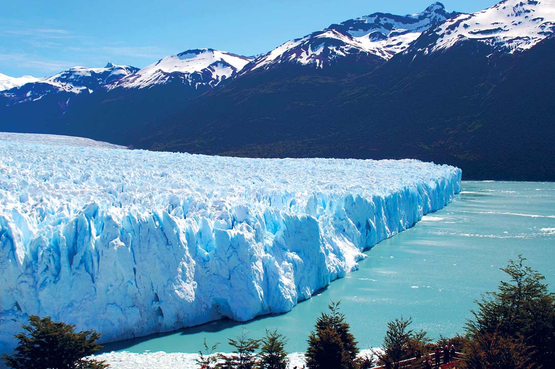
[[[382,62],[405,50],[430,27],[458,13],[449,13],[441,3],[433,3],[425,11],[406,16],[374,13],[339,24],[322,31],[288,41],[254,60],[248,70],[268,69],[273,65],[294,63],[323,68],[343,57],[361,55]]]

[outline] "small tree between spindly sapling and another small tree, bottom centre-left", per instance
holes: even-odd
[[[218,355],[221,361],[216,365],[216,369],[254,369],[256,367],[255,351],[260,347],[260,340],[253,340],[248,337],[248,333],[243,330],[237,340],[229,338],[229,345],[235,347],[231,355]]]

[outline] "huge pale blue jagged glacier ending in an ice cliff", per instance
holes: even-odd
[[[62,150],[60,141],[0,140],[4,351],[30,314],[111,341],[289,311],[461,185],[460,169],[417,160]]]

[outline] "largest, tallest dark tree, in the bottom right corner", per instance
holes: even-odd
[[[502,270],[509,281],[498,291],[477,301],[478,311],[467,323],[471,342],[468,368],[551,367],[555,354],[555,295],[543,283],[544,277],[528,266],[524,257],[510,260]],[[471,352],[472,351],[472,352]],[[495,360],[494,360],[495,359]]]

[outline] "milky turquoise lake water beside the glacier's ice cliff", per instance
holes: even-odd
[[[504,279],[500,267],[523,254],[555,286],[555,183],[463,182],[445,209],[367,251],[360,270],[336,280],[284,315],[247,323],[217,321],[164,335],[120,341],[104,351],[198,352],[203,339],[222,342],[243,329],[259,338],[278,329],[287,351],[306,350],[306,337],[330,300],[341,301],[359,348],[380,347],[387,321],[412,317],[431,338],[463,332],[474,300]]]

